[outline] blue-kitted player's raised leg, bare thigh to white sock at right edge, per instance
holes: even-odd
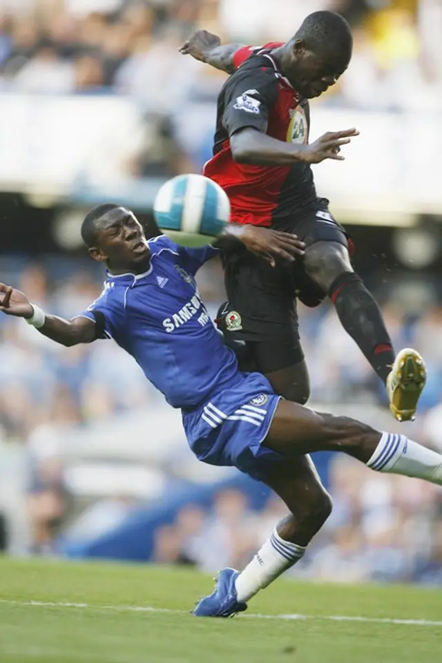
[[[339,451],[372,470],[417,477],[442,486],[441,454],[405,435],[380,432],[356,419],[314,412],[298,403],[278,403],[262,446],[286,458]]]

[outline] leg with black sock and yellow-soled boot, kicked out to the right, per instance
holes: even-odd
[[[334,220],[329,222],[331,226],[325,226],[326,220],[321,218],[315,222],[316,234],[311,233],[305,252],[305,271],[328,292],[345,331],[385,383],[396,419],[413,419],[425,385],[425,363],[410,348],[395,358],[381,310],[353,271],[343,231],[337,224],[334,227]]]

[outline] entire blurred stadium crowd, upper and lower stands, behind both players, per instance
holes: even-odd
[[[195,100],[213,104],[223,77],[180,55],[182,41],[200,27],[223,41],[287,39],[318,8],[348,17],[355,48],[345,77],[315,103],[366,111],[442,111],[439,0],[0,0],[0,91],[131,95],[149,123],[144,154],[128,163],[128,172],[168,176],[198,171],[209,156],[211,131],[198,151],[191,148],[192,137],[186,137],[184,146],[177,130],[180,112]],[[194,131],[196,135],[200,128]],[[1,261],[1,280],[61,316],[84,310],[101,289],[102,275],[80,258],[55,256],[31,264],[5,256]],[[395,346],[416,345],[429,369],[419,420],[410,435],[442,450],[438,297],[420,300],[413,309],[401,305],[397,294],[386,296],[382,285],[374,290]],[[200,291],[215,314],[224,298],[219,265],[202,273]],[[421,291],[414,294],[415,299],[420,296]],[[367,403],[385,406],[380,385],[331,308],[302,309],[300,332],[312,403],[356,403],[362,411]],[[0,443],[24,445],[28,458],[30,537],[20,552],[54,554],[66,523],[106,531],[140,506],[140,500],[113,494],[92,508],[88,522],[84,514],[73,519],[66,431],[105,420],[111,429],[115,417],[135,409],[155,408],[166,418],[169,409],[135,362],[111,342],[66,350],[3,316],[0,338]],[[334,513],[295,574],[442,584],[440,490],[401,477],[377,477],[345,457],[330,461],[327,477]],[[277,499],[257,513],[249,508],[247,494],[220,492],[213,508],[185,507],[172,524],[160,527],[153,557],[204,570],[242,566],[282,512]],[[0,548],[7,538],[0,518]]]

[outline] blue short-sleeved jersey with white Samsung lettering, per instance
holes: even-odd
[[[148,271],[108,274],[102,294],[81,316],[103,316],[104,337],[133,356],[170,405],[192,410],[241,377],[195,284],[195,273],[219,251],[180,247],[164,235],[148,247]]]

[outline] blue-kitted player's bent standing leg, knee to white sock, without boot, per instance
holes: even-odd
[[[265,479],[289,509],[246,568],[237,575],[237,600],[247,603],[299,561],[332,512],[332,499],[309,456],[273,465]]]

